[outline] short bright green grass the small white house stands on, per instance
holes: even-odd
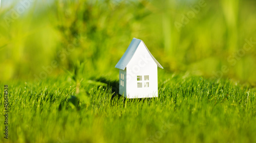
[[[249,85],[160,72],[159,98],[124,99],[115,94],[118,79],[113,77],[80,78],[77,82],[62,75],[36,84],[9,82],[9,139],[1,133],[1,140],[256,141],[255,89]],[[3,99],[2,91],[0,95]]]

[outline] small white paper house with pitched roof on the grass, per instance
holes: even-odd
[[[119,69],[119,94],[126,98],[158,97],[157,62],[142,40],[133,38],[115,68]]]

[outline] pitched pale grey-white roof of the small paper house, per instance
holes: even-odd
[[[129,47],[124,52],[122,58],[116,64],[115,68],[118,68],[118,69],[121,69],[121,70],[124,70],[126,68],[126,66],[129,64],[129,62],[133,58],[133,55],[134,55],[135,51],[137,50],[140,42],[143,42],[143,41],[140,40],[140,39],[133,38],[133,40],[130,43]],[[144,44],[144,42],[143,42],[143,44]],[[144,46],[146,47],[145,44],[144,44]],[[147,47],[146,47],[146,49],[147,49]],[[154,56],[151,54],[151,52],[148,49],[147,49],[147,51],[148,51],[148,53],[150,53],[152,59],[156,62],[157,66],[159,68],[163,69],[163,67],[157,62],[157,60],[154,58]]]

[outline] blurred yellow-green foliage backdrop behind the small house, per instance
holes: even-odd
[[[135,37],[166,72],[256,82],[256,1],[1,3],[2,81],[43,80],[77,61],[87,75],[114,75]]]

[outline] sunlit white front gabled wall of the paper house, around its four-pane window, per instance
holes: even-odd
[[[149,75],[149,87],[145,88],[145,80],[138,81],[137,76]],[[132,60],[126,66],[126,95],[127,98],[158,97],[157,64],[148,53],[143,42],[139,44]],[[142,82],[142,88],[138,88]]]

